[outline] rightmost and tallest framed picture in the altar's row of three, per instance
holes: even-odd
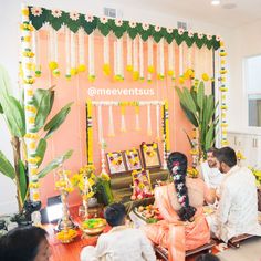
[[[140,145],[140,152],[145,168],[159,168],[161,166],[157,143],[143,143]]]

